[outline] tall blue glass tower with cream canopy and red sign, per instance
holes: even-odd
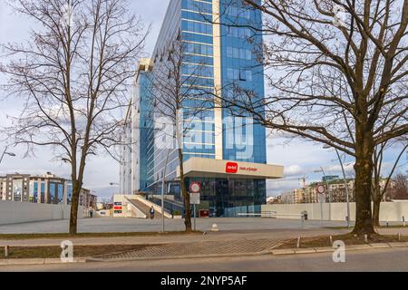
[[[172,43],[181,42],[183,55],[189,56],[182,63],[183,85],[228,98],[233,93],[230,84],[235,83],[261,100],[265,90],[258,53],[262,35],[248,28],[261,25],[260,12],[240,0],[170,1],[151,59],[141,60],[136,78],[123,137],[131,146],[122,150],[121,194],[160,195],[165,179],[166,192],[176,201],[181,199],[178,151],[155,146],[158,131],[149,102],[153,98],[150,76],[173,53]],[[189,83],[189,72],[199,72],[195,83]],[[265,128],[250,118],[234,117],[222,104],[215,105],[216,100],[213,97],[214,104],[205,114],[185,128],[184,136],[196,138],[184,139],[182,150],[187,187],[191,182],[201,184],[199,208],[223,216],[225,208],[265,204],[266,179],[281,178],[283,168],[267,165]],[[191,106],[194,103],[183,104],[186,110]]]

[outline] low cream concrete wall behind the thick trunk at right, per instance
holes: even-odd
[[[306,210],[309,219],[323,219],[329,218],[329,204],[277,204],[262,206],[262,212],[275,211],[277,218],[294,218],[300,219],[302,211]],[[279,215],[280,214],[280,215]],[[343,221],[347,216],[346,203],[332,203],[331,204],[332,220]],[[264,215],[265,216],[265,215]],[[350,202],[350,219],[355,220],[355,203]],[[382,202],[380,208],[380,221],[402,221],[408,219],[408,200],[395,202]]]

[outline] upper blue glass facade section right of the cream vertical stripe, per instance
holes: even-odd
[[[262,18],[259,10],[242,4],[242,1],[220,0],[221,14],[221,70],[222,94],[228,98],[234,83],[239,88],[255,92],[264,98],[264,67],[259,53]],[[251,30],[248,27],[254,27]],[[230,111],[223,110],[223,119],[230,118]],[[224,160],[267,163],[266,130],[246,119],[232,118],[224,124]],[[231,142],[229,140],[235,140]],[[237,141],[241,140],[241,141]]]

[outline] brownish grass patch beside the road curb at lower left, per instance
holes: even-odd
[[[106,245],[106,246],[77,246],[73,247],[74,257],[99,256],[105,254],[121,253],[127,251],[137,251],[151,245]],[[8,250],[9,259],[29,259],[29,258],[59,258],[61,247],[10,247]],[[5,248],[0,248],[0,260],[5,259]]]

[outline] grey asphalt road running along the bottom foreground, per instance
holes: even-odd
[[[345,263],[334,263],[330,253],[290,256],[241,256],[86,263],[72,265],[2,266],[0,271],[110,271],[110,272],[408,272],[408,249],[376,249],[346,253]]]

